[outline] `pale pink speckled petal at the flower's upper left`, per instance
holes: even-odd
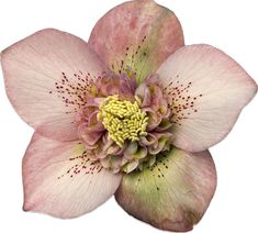
[[[104,66],[87,43],[57,30],[43,30],[1,54],[7,93],[22,119],[51,138],[77,138],[75,113],[87,80]]]

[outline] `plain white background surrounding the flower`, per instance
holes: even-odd
[[[222,48],[258,81],[256,0],[157,0],[173,10],[186,43]],[[0,0],[0,51],[44,27],[56,27],[86,41],[97,20],[121,0]],[[33,130],[15,114],[0,75],[0,232],[159,232],[128,217],[111,199],[76,220],[25,213],[21,160]],[[258,104],[245,108],[232,133],[211,148],[218,174],[215,197],[195,233],[258,232]],[[222,112],[223,114],[223,112]]]

